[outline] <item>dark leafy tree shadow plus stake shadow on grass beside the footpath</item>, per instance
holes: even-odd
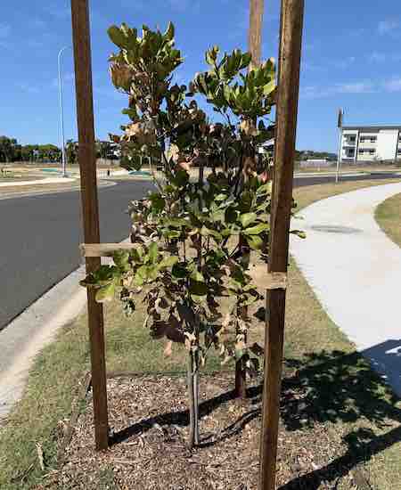
[[[374,350],[388,352],[393,342]],[[339,458],[294,478],[280,490],[315,490],[323,481],[344,477],[359,463],[401,441],[399,398],[372,371],[363,355],[322,352],[307,355],[303,361],[288,360],[286,364],[292,371],[282,380],[281,416],[287,430],[312,429],[315,422],[358,422],[367,427],[350,431],[343,438],[348,449]],[[373,432],[372,425],[379,435]]]

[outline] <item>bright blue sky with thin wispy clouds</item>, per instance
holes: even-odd
[[[96,135],[126,122],[125,99],[110,84],[106,29],[126,21],[176,24],[185,56],[177,80],[205,67],[210,45],[246,49],[248,0],[92,0]],[[265,0],[263,57],[277,56],[279,0]],[[335,151],[336,112],[347,124],[401,124],[399,0],[307,0],[299,99],[299,149]],[[69,0],[4,2],[0,17],[0,135],[20,143],[59,143],[57,53],[71,44]],[[77,137],[72,50],[63,55],[66,138]]]

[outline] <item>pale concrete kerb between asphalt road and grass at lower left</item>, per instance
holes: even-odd
[[[84,277],[81,265],[0,331],[0,421],[20,400],[35,357],[84,311],[86,290],[79,285]]]

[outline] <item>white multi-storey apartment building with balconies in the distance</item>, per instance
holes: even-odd
[[[340,142],[344,163],[401,159],[401,126],[344,126]]]

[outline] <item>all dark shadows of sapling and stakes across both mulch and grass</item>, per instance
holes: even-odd
[[[388,352],[391,345],[392,341],[382,345],[381,351]],[[201,446],[215,445],[241,433],[251,420],[260,416],[261,395],[260,384],[249,388],[248,396],[253,405],[250,410],[218,433],[204,437]],[[227,391],[202,402],[201,417],[233,398],[233,391]],[[302,360],[287,359],[281,400],[281,419],[286,430],[313,429],[315,423],[325,422],[358,422],[365,423],[366,427],[354,429],[344,437],[348,446],[345,453],[319,470],[292,479],[281,490],[316,490],[323,481],[333,482],[347,475],[374,454],[401,441],[401,409],[397,407],[397,400],[379,374],[373,372],[368,361],[357,352],[331,351],[306,355]],[[188,423],[188,410],[162,413],[115,433],[111,444],[139,435],[154,424],[187,426]],[[379,435],[373,432],[372,426]]]

